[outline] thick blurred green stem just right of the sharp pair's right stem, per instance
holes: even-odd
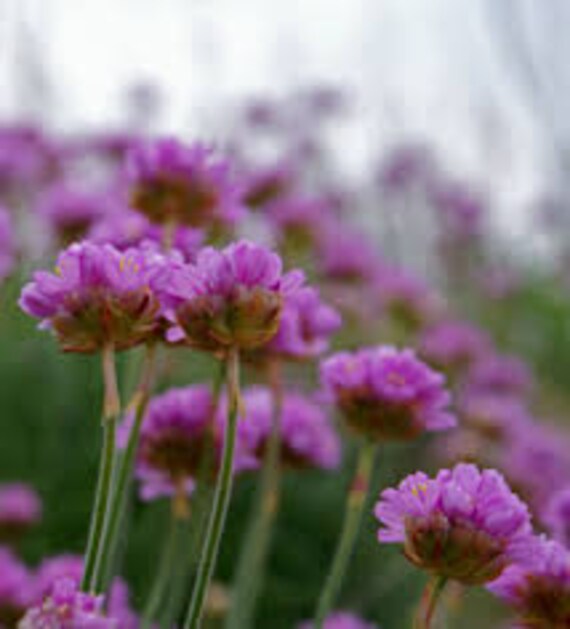
[[[273,398],[271,434],[263,458],[256,502],[233,579],[232,604],[225,629],[244,629],[253,625],[253,615],[263,583],[272,527],[279,503],[283,387],[281,364],[277,360],[269,364],[268,380]]]

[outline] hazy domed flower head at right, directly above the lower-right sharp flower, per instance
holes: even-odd
[[[466,375],[468,391],[498,395],[530,393],[533,378],[528,365],[515,356],[491,353],[478,359]]]

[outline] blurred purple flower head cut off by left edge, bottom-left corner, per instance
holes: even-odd
[[[32,598],[28,569],[6,548],[0,547],[0,627],[15,627]]]

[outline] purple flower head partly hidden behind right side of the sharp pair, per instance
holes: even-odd
[[[321,301],[317,290],[300,288],[284,300],[279,329],[266,349],[291,360],[314,358],[327,351],[341,323],[339,313]]]

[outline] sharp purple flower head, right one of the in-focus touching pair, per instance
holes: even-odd
[[[300,271],[282,274],[277,254],[247,241],[202,249],[165,288],[174,323],[168,338],[214,352],[260,347],[275,336],[283,301],[303,279]]]

